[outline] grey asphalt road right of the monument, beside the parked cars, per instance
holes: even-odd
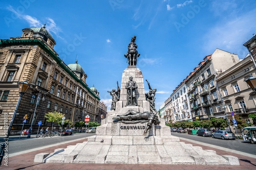
[[[256,155],[256,144],[251,144],[250,142],[244,142],[243,139],[239,139],[239,141],[238,139],[222,140],[222,139],[216,139],[212,137],[188,135],[186,133],[177,133],[177,132],[172,132],[172,135]]]

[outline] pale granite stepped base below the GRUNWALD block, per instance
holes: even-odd
[[[40,153],[34,162],[239,165],[237,157],[179,141],[175,136],[90,136],[87,142]]]

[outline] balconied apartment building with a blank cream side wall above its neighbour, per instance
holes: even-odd
[[[193,120],[220,117],[222,103],[216,76],[238,62],[238,55],[217,48],[189,74],[185,84]]]

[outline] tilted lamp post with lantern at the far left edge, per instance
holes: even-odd
[[[17,113],[17,110],[19,108],[19,105],[20,105],[20,99],[22,98],[23,94],[26,93],[26,91],[29,89],[30,87],[30,84],[25,80],[24,82],[19,82],[18,83],[19,85],[19,99],[18,99],[18,102],[17,102],[17,105],[16,105],[16,108],[14,110],[14,113],[12,115],[12,120],[10,122],[10,125],[8,127],[8,131],[7,131],[7,134],[5,133],[5,138],[4,138],[4,142],[1,144],[1,147],[0,147],[0,165],[2,164],[2,160],[3,160],[3,156],[5,155],[5,148],[7,146],[8,148],[8,139],[9,139],[9,134],[10,134],[10,131],[12,129],[12,123],[15,119],[15,116],[16,116],[16,113]],[[5,130],[5,127],[4,127],[4,130]]]

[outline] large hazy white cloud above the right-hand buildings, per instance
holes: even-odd
[[[220,48],[244,58],[248,51],[243,44],[253,37],[252,34],[256,30],[256,26],[251,24],[256,22],[255,12],[254,9],[239,17],[230,17],[221,23],[216,23],[204,36],[203,44],[206,47],[204,50],[211,53],[215,48]]]

